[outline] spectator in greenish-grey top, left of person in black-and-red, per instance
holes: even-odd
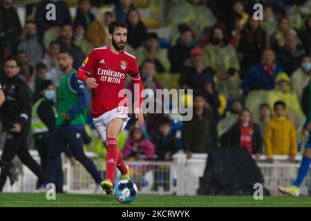
[[[217,133],[220,137],[220,143],[224,144],[223,135],[238,121],[238,115],[243,110],[243,104],[240,100],[234,99],[230,104],[229,111],[226,112],[225,118],[217,124]]]

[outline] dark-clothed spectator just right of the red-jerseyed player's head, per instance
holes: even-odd
[[[136,49],[147,39],[147,28],[141,21],[140,12],[135,9],[129,10],[126,24],[129,26],[127,42]]]

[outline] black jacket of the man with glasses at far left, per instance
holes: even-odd
[[[6,101],[3,103],[3,126],[12,128],[13,124],[29,126],[31,122],[31,90],[19,75],[6,77],[3,84]]]

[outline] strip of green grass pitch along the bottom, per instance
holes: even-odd
[[[56,200],[46,200],[45,194],[39,193],[0,193],[0,206],[26,207],[222,207],[222,206],[308,206],[311,207],[311,198],[289,196],[265,196],[263,200],[254,200],[252,196],[174,196],[174,195],[138,195],[131,204],[121,204],[111,195],[56,195]]]

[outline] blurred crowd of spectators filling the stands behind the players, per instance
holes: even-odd
[[[43,159],[42,168],[55,128],[53,91],[62,78],[57,55],[70,52],[78,69],[93,48],[109,44],[108,26],[115,20],[129,26],[126,51],[138,60],[149,96],[163,88],[194,90],[187,104],[194,108],[190,121],[149,113],[139,127],[132,117],[118,136],[124,157],[171,160],[178,150],[190,158],[211,146],[232,146],[256,157],[265,154],[270,162],[273,155],[294,161],[310,112],[310,0],[0,2],[0,82],[6,77],[6,59],[16,57],[19,76],[33,94],[28,137]],[[56,6],[55,21],[46,20],[48,3]],[[252,16],[254,3],[263,4],[263,20]],[[16,6],[26,8],[24,18]],[[149,15],[141,15],[146,10]],[[133,91],[131,82],[126,87]],[[85,99],[89,113],[88,88]],[[48,130],[34,126],[38,117]],[[104,158],[89,114],[83,136],[85,150]]]

